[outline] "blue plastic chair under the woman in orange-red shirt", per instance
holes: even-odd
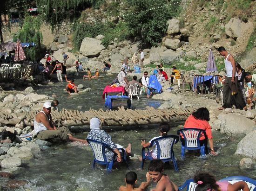
[[[177,131],[177,134],[183,135],[184,141],[185,141],[185,146],[182,146],[182,159],[185,157],[185,149],[187,150],[199,150],[200,149],[200,153],[201,156],[205,155],[205,148],[204,145],[200,146],[200,135],[204,134],[205,137],[205,141],[207,141],[207,135],[205,133],[205,130],[202,129],[198,129],[198,128],[183,128]],[[182,140],[182,138],[181,138]]]

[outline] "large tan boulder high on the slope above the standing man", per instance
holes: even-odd
[[[251,22],[244,23],[240,19],[232,18],[229,20],[228,24],[225,25],[225,32],[228,37],[238,38],[252,27],[253,24]]]

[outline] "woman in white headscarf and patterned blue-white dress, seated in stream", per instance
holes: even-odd
[[[101,121],[99,118],[94,117],[90,120],[90,128],[91,130],[87,136],[87,139],[97,140],[107,144],[117,154],[117,161],[121,162],[121,153],[118,149],[123,148],[123,146],[115,144],[112,141],[111,136],[101,129]],[[130,155],[131,149],[132,146],[129,143],[125,148],[127,155]],[[114,157],[114,153],[108,148],[105,149],[105,153],[108,162],[110,162]]]

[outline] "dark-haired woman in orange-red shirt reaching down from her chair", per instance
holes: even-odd
[[[209,125],[210,114],[207,108],[199,108],[197,111],[193,112],[188,119],[185,121],[184,128],[199,128],[203,129],[206,132],[206,135],[209,140],[209,145],[211,149],[212,155],[217,155],[214,151],[213,147],[213,137],[211,132],[211,126]],[[182,145],[185,145],[185,140],[183,139],[183,135],[181,136]],[[208,154],[207,141],[205,141],[205,137],[203,134],[200,135],[200,146],[204,144],[205,153]]]

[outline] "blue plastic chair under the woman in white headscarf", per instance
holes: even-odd
[[[92,147],[93,153],[94,153],[94,161],[93,161],[93,168],[95,167],[95,163],[98,163],[100,165],[106,165],[108,172],[111,171],[113,163],[115,162],[115,156],[116,153],[113,151],[113,149],[110,148],[107,144],[97,141],[97,140],[92,140],[92,139],[87,139],[88,143]],[[105,148],[108,148],[114,153],[113,160],[108,162],[106,153],[105,153]],[[121,148],[119,149],[123,153],[123,161],[126,162],[126,152],[125,149]],[[127,165],[127,163],[126,163]],[[128,165],[127,165],[128,166]]]

